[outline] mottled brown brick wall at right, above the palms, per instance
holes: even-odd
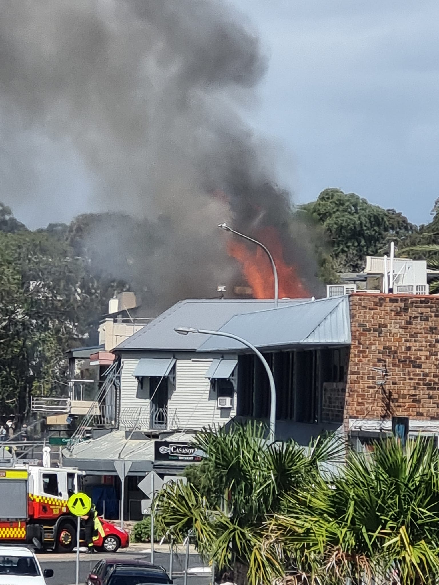
[[[439,421],[439,297],[357,293],[349,303],[345,424],[392,415]]]

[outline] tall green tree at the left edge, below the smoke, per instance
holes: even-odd
[[[106,298],[87,263],[46,233],[0,232],[0,415],[24,415],[32,393],[63,380],[63,356],[87,343]]]

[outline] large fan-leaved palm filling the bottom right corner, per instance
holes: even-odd
[[[284,498],[266,526],[291,579],[308,583],[437,583],[439,455],[395,439],[349,453],[345,472]]]

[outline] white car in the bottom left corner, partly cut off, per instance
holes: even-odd
[[[0,585],[46,585],[53,570],[41,570],[32,550],[26,546],[0,546]]]

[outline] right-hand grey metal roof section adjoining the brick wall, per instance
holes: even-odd
[[[233,333],[256,347],[349,345],[348,297],[323,298],[246,315],[236,315],[218,331]],[[210,336],[199,352],[245,349],[233,339]]]

